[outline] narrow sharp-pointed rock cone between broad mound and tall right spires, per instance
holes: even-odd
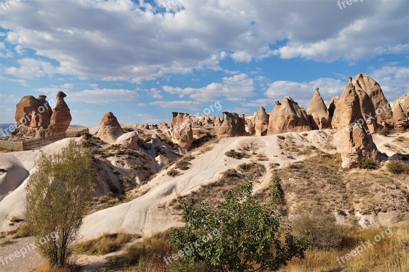
[[[330,114],[323,97],[319,92],[319,88],[315,89],[315,93],[312,96],[312,100],[306,111],[310,114],[312,129],[319,130],[331,127]]]

